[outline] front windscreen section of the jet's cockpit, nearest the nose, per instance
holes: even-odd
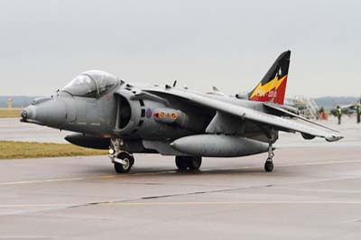
[[[97,97],[97,85],[95,81],[87,75],[77,76],[61,90],[79,97]]]

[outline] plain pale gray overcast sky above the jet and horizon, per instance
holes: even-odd
[[[292,51],[287,96],[361,94],[360,1],[0,0],[0,95],[87,69],[235,94]]]

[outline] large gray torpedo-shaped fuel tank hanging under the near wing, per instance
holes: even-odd
[[[199,134],[181,137],[171,143],[179,152],[204,157],[240,157],[268,151],[268,144],[253,139],[220,135]]]

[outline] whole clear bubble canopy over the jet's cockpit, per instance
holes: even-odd
[[[117,78],[105,71],[89,70],[72,79],[61,91],[78,97],[99,97],[117,83]]]

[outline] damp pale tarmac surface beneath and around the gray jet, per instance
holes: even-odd
[[[1,160],[0,239],[361,239],[361,125],[333,120],[338,143],[282,134],[273,172],[266,154],[204,158],[195,172],[136,154],[126,175],[106,156]],[[63,137],[4,125],[0,139]]]

